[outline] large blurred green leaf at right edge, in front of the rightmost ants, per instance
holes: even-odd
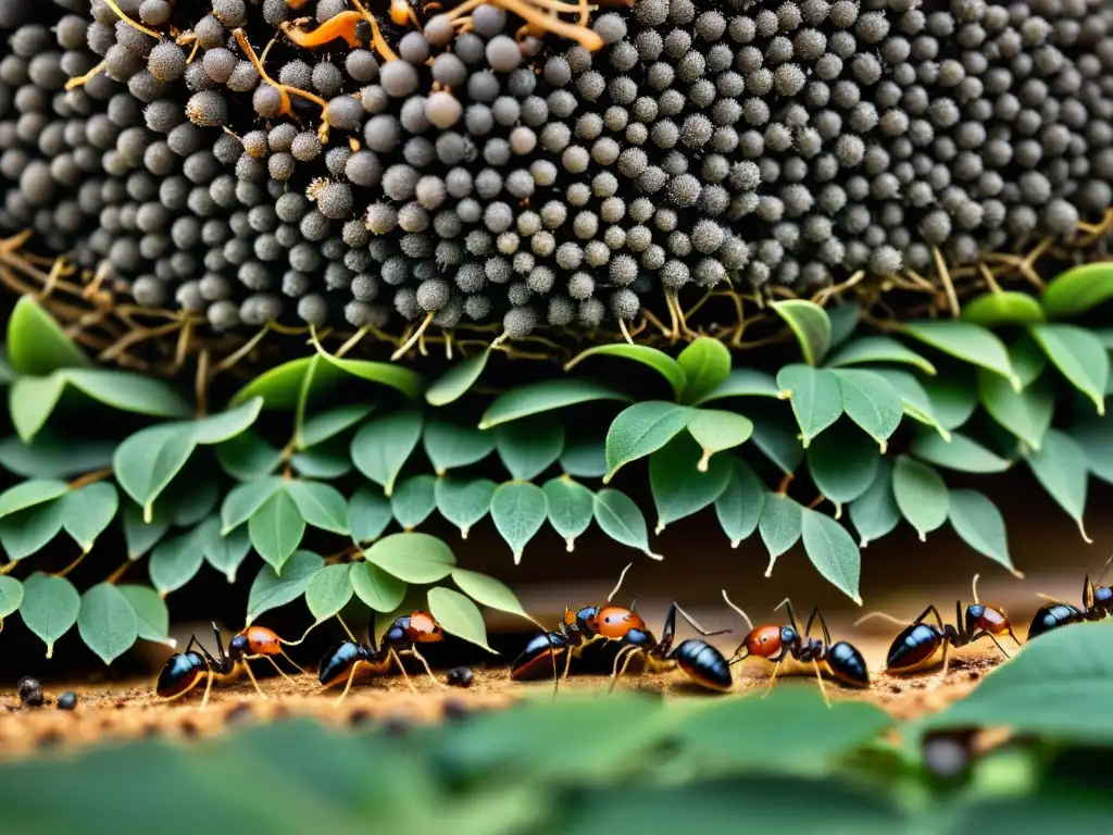
[[[1007,726],[1018,736],[1085,746],[1107,744],[1113,723],[1096,706],[1105,705],[1113,690],[1111,637],[1109,621],[1042,635],[986,676],[966,698],[927,716],[922,727]]]

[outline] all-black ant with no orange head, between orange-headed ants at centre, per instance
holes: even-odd
[[[664,628],[661,630],[661,640],[653,638],[652,632],[641,627],[629,627],[620,638],[611,638],[622,644],[622,648],[614,656],[614,669],[611,670],[611,687],[618,684],[630,665],[630,660],[636,655],[641,655],[646,659],[646,666],[652,672],[670,670],[679,667],[688,677],[708,690],[718,692],[728,691],[733,685],[730,677],[730,665],[722,657],[722,652],[700,638],[687,638],[672,648],[672,638],[676,633],[677,612],[688,621],[688,625],[705,638],[712,635],[727,635],[730,629],[719,629],[713,632],[703,629],[692,620],[688,613],[673,601],[669,606],[664,616]],[[636,616],[637,617],[637,616]],[[640,621],[641,618],[639,617]],[[622,661],[622,669],[619,670],[619,661]]]

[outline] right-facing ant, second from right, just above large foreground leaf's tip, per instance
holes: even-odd
[[[981,638],[988,638],[1001,650],[1001,654],[1005,658],[1008,658],[1008,652],[1001,646],[997,636],[1008,635],[1016,642],[1017,647],[1021,646],[1021,641],[1013,632],[1013,627],[1008,622],[1004,610],[978,600],[977,580],[978,574],[974,574],[974,580],[971,583],[974,602],[966,607],[965,619],[963,618],[963,603],[961,600],[955,601],[954,625],[944,623],[939,610],[933,605],[924,609],[918,618],[907,625],[893,639],[885,661],[887,672],[903,675],[933,667],[936,662],[936,656],[942,650],[943,677],[945,678],[947,666],[951,661],[952,647],[957,649],[958,647],[965,647],[967,644],[973,644]],[[935,616],[935,625],[924,622],[924,619],[928,615]],[[855,626],[873,617],[881,617],[896,623],[904,622],[885,612],[870,612],[859,618]],[[961,628],[959,623],[962,625]]]

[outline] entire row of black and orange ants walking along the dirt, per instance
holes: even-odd
[[[1106,562],[1106,569],[1111,562],[1113,562],[1113,557]],[[629,569],[630,566],[627,566],[622,570],[618,584],[608,596],[603,606],[587,606],[574,612],[565,609],[564,617],[555,630],[543,631],[534,636],[511,664],[511,679],[525,681],[551,676],[555,694],[560,684],[568,678],[573,659],[581,659],[589,647],[602,644],[618,646],[610,676],[610,691],[613,691],[619,679],[627,674],[630,662],[636,657],[642,659],[646,671],[663,672],[680,669],[698,687],[716,692],[726,692],[732,689],[731,667],[750,657],[762,658],[776,665],[766,687],[767,694],[776,682],[782,664],[789,659],[810,665],[820,692],[828,704],[830,703],[824,685],[825,680],[833,680],[844,687],[858,689],[868,688],[871,684],[869,670],[861,652],[847,641],[831,640],[827,622],[819,608],[812,610],[801,629],[800,620],[788,598],[774,609],[774,611],[781,608],[786,610],[787,623],[754,626],[749,616],[731,602],[726,590],[722,591],[726,603],[746,621],[748,627],[745,639],[729,658],[705,639],[727,635],[732,630],[706,630],[674,601],[666,612],[661,638],[657,639],[641,615],[634,611],[637,601],[631,602],[629,608],[611,603]],[[1104,570],[1102,573],[1104,574]],[[932,605],[910,622],[902,621],[885,612],[875,611],[859,618],[855,625],[874,617],[885,618],[900,625],[902,631],[889,646],[885,671],[907,675],[922,672],[942,664],[943,671],[938,679],[942,681],[948,670],[952,649],[958,649],[987,638],[1007,658],[1008,651],[1001,642],[1004,638],[1007,637],[1017,647],[1021,646],[1005,611],[1001,607],[984,603],[978,599],[977,581],[978,576],[975,574],[971,586],[974,602],[966,606],[964,610],[962,601],[955,601],[955,621],[953,623],[945,622],[938,609]],[[1101,577],[1099,577],[1100,582]],[[1046,598],[1044,595],[1041,597]],[[1036,612],[1028,626],[1028,640],[1070,623],[1100,620],[1113,613],[1113,588],[1095,584],[1089,574],[1083,581],[1081,607],[1053,598],[1046,599],[1050,602]],[[699,633],[699,638],[687,638],[673,646],[678,615]],[[344,625],[343,620],[341,623]],[[811,630],[816,626],[818,626],[821,637],[811,636]],[[446,686],[433,675],[429,661],[418,651],[418,645],[444,640],[444,630],[427,612],[417,610],[397,618],[386,629],[382,640],[377,644],[370,629],[365,641],[356,640],[347,630],[346,625],[344,625],[344,629],[347,631],[348,639],[335,644],[325,654],[317,671],[317,679],[323,689],[345,682],[337,701],[348,695],[356,678],[361,675],[366,677],[385,676],[392,667],[396,667],[405,677],[410,688],[416,690],[403,667],[403,656],[417,659],[424,666],[429,678],[437,687]],[[232,639],[227,651],[225,651],[216,623],[213,625],[213,631],[216,654],[209,652],[196,636],[190,638],[185,651],[171,656],[162,668],[156,685],[158,696],[166,699],[177,699],[205,681],[205,695],[201,698],[201,707],[204,707],[208,703],[214,684],[229,681],[236,678],[240,671],[246,672],[255,689],[264,695],[252,671],[250,661],[265,659],[275,667],[279,675],[292,680],[278,666],[277,656],[282,656],[299,672],[307,672],[286,655],[284,647],[296,646],[304,641],[308,630],[301,639],[287,641],[266,627],[249,626]]]

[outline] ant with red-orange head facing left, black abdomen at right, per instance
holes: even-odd
[[[741,615],[742,619],[750,627],[746,639],[738,645],[738,649],[735,650],[735,655],[731,656],[729,664],[738,664],[750,656],[777,662],[777,666],[774,667],[772,676],[769,677],[769,684],[766,686],[766,694],[769,692],[777,680],[780,665],[789,656],[804,664],[811,662],[816,669],[819,692],[823,695],[824,701],[827,703],[828,707],[830,707],[830,699],[827,698],[827,690],[824,687],[825,672],[835,681],[847,687],[869,687],[869,670],[866,667],[866,659],[858,651],[857,647],[851,644],[846,641],[831,642],[827,621],[824,619],[824,615],[819,611],[818,606],[811,611],[811,616],[808,618],[808,622],[801,632],[800,623],[796,619],[796,610],[792,608],[792,601],[788,598],[781,600],[774,608],[774,611],[777,611],[782,606],[788,609],[788,626],[761,625],[758,627],[754,626],[754,621],[750,620],[746,612],[730,601],[726,589],[722,590],[722,599],[727,601],[727,606]],[[811,637],[811,625],[816,620],[819,621],[819,628],[823,630],[823,640]]]

